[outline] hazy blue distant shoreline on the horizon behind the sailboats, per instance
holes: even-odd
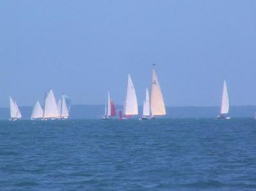
[[[116,105],[116,111],[122,110],[122,105]],[[32,106],[20,107],[23,119],[29,119],[32,112]],[[218,106],[173,106],[166,107],[165,118],[216,118],[220,111]],[[104,105],[72,105],[70,109],[70,119],[100,119],[104,112]],[[139,106],[139,118],[142,107]],[[231,118],[253,118],[256,112],[256,105],[230,106]],[[10,109],[8,107],[0,108],[0,119],[9,119]]]

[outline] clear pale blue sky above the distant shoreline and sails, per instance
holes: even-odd
[[[152,64],[168,106],[256,105],[256,1],[0,1],[0,107],[123,104],[127,74],[139,105]]]

